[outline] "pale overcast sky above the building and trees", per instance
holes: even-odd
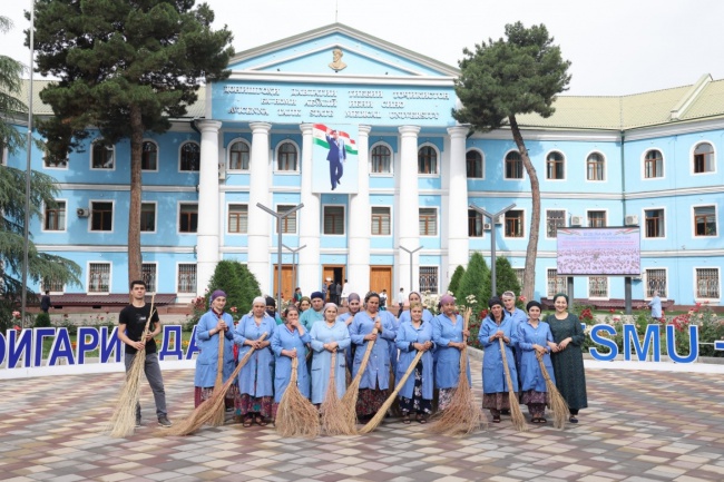
[[[0,55],[29,61],[22,12],[31,0],[2,0],[14,29]],[[197,2],[198,3],[198,2]],[[236,52],[339,21],[458,66],[463,48],[498,39],[505,26],[544,23],[571,61],[565,95],[620,96],[724,79],[721,0],[207,0]],[[39,78],[39,76],[36,76]]]

